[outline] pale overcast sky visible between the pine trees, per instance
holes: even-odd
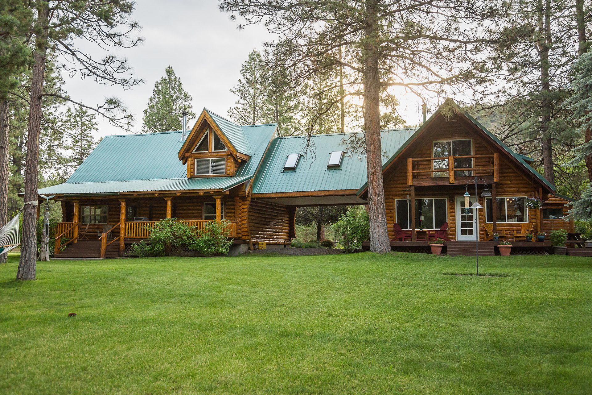
[[[119,86],[102,86],[90,79],[67,75],[64,79],[70,97],[85,104],[100,104],[108,95],[123,99],[136,117],[136,131],[141,129],[143,111],[154,84],[165,74],[168,65],[193,98],[195,113],[207,107],[226,116],[236,101],[230,88],[239,79],[240,66],[247,54],[253,48],[261,50],[262,43],[273,38],[263,25],[237,30],[237,22],[230,21],[227,14],[218,10],[217,0],[137,0],[133,18],[143,28],[140,36],[144,43],[122,53],[134,75],[143,79],[144,84],[124,90]],[[404,97],[398,99],[401,115],[408,122],[417,123],[420,116],[417,103]],[[99,119],[97,137],[121,133],[121,129]]]

